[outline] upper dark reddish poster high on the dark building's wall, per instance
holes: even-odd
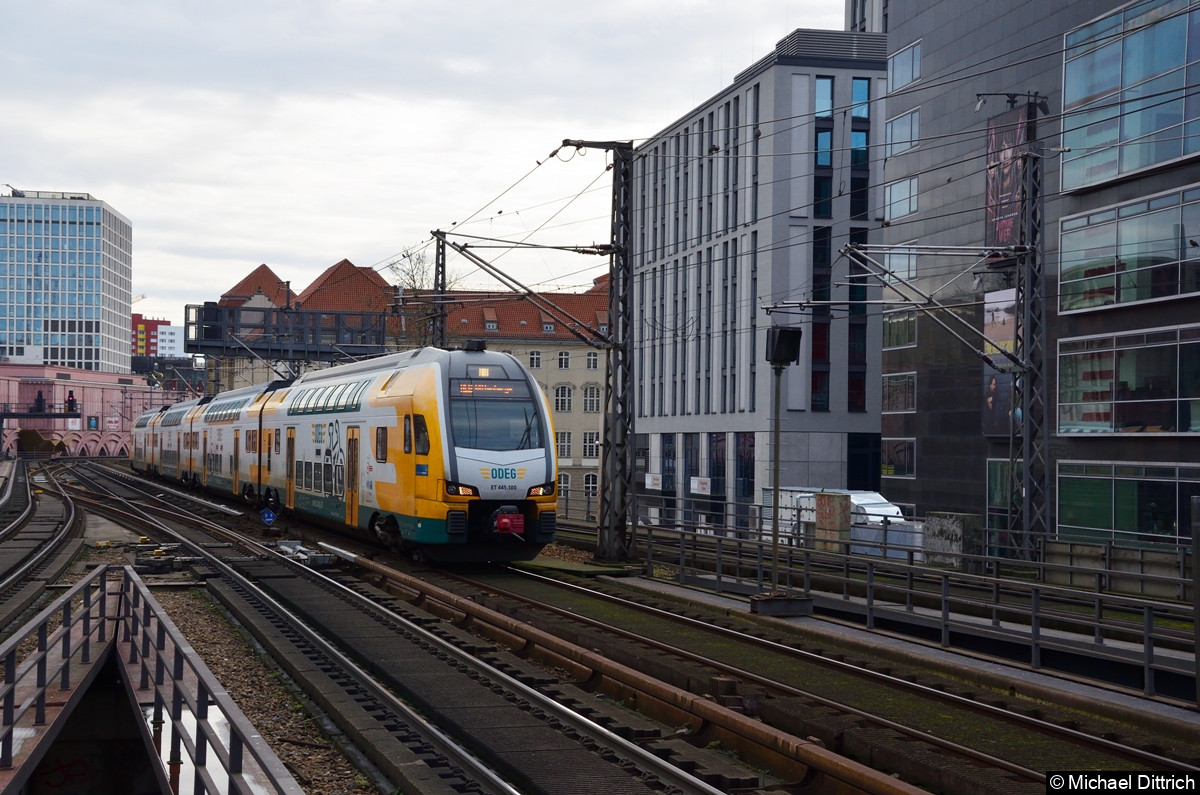
[[[1020,243],[1021,149],[1028,141],[1028,106],[988,119],[986,229],[984,245]]]

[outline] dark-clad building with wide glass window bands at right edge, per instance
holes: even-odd
[[[888,19],[894,251],[985,250],[1006,162],[1040,166],[1044,211],[1016,222],[1040,233],[1046,340],[1027,364],[1046,384],[1049,532],[1188,540],[1200,496],[1200,4],[913,2],[892,4]],[[1032,121],[1027,143],[996,137],[1013,113]],[[1006,293],[1012,268],[896,263],[990,339],[1003,336],[1006,295],[1024,309]],[[1004,417],[989,425],[994,373],[977,352],[893,310],[883,447],[902,455],[883,494],[1006,530],[1008,473],[1024,465],[1018,406],[997,399]],[[1000,373],[1001,398],[1020,377]]]

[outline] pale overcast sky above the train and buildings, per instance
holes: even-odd
[[[463,234],[605,243],[605,155],[547,160],[564,138],[652,136],[792,30],[842,28],[844,7],[7,4],[0,184],[88,192],[128,217],[133,293],[146,295],[133,310],[176,324],[262,263],[296,292],[343,258],[386,276],[431,229],[468,219]],[[481,253],[536,289],[581,288],[606,265]]]

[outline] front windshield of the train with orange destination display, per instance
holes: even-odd
[[[538,400],[524,381],[451,378],[450,429],[456,447],[532,450],[545,446]]]

